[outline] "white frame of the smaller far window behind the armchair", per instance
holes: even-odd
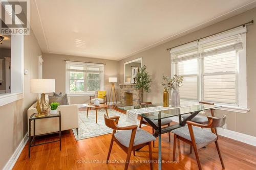
[[[69,96],[84,96],[84,95],[94,95],[95,91],[87,91],[87,74],[90,73],[90,71],[84,71],[83,72],[83,80],[84,80],[84,91],[83,92],[70,92],[70,72],[67,70],[69,69],[69,66],[83,66],[84,70],[87,70],[87,67],[102,67],[102,73],[99,73],[99,81],[100,81],[100,89],[104,89],[104,65],[103,64],[96,64],[96,63],[87,63],[87,62],[75,62],[75,61],[66,61],[66,93]]]

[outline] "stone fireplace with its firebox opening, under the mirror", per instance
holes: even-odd
[[[120,104],[125,106],[139,105],[142,97],[141,90],[135,84],[119,84]]]

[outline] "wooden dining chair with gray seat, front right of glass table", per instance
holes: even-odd
[[[198,124],[188,120],[187,126],[184,126],[172,131],[174,133],[173,161],[175,160],[175,154],[176,154],[175,153],[176,142],[177,142],[177,139],[180,139],[190,144],[194,148],[198,168],[199,170],[201,170],[202,167],[201,167],[199,156],[198,156],[198,149],[204,147],[209,143],[215,142],[222,168],[225,168],[222,157],[221,157],[221,152],[220,152],[215,128],[222,127],[225,124],[226,116],[223,116],[222,118],[207,116],[207,118],[209,123],[206,125]],[[202,128],[210,128],[211,132]]]

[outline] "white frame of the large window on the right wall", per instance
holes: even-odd
[[[224,74],[230,74],[232,72],[236,74],[236,96],[237,96],[237,104],[227,104],[227,103],[219,103],[219,102],[214,102],[216,105],[222,106],[221,108],[219,108],[220,110],[227,110],[227,111],[235,111],[235,112],[240,112],[240,113],[246,113],[247,111],[249,111],[250,109],[247,108],[247,81],[246,81],[246,28],[241,28],[240,30],[242,30],[244,33],[242,34],[242,45],[243,48],[240,51],[237,51],[237,71],[226,71],[226,72],[215,72],[215,73],[205,73],[204,72],[204,57],[200,57],[200,55],[198,55],[198,100],[191,100],[191,99],[181,99],[184,102],[191,102],[191,103],[198,103],[199,101],[202,101],[203,99],[203,76],[205,75],[214,75],[214,74],[218,74],[218,75],[224,75]],[[233,34],[239,32],[238,29],[234,29],[231,31],[228,31],[226,34],[225,33],[221,33],[221,34],[217,34],[216,36],[212,37],[212,41],[216,40],[216,39],[221,39],[221,38],[225,38],[227,36],[230,36],[230,34],[232,34],[232,31],[234,32]],[[241,32],[242,32],[241,31]],[[238,33],[237,33],[238,34]],[[208,39],[210,39],[211,37],[209,37]],[[176,51],[180,51],[182,49],[185,49],[189,46],[192,46],[194,43],[198,43],[198,51],[200,50],[200,42],[199,41],[195,41],[189,44],[184,45],[184,47],[182,46],[178,46],[177,50],[175,50],[174,52],[172,52],[172,50],[170,51],[170,58],[171,58],[171,75],[174,76],[175,74],[178,75],[178,62],[173,63],[173,54]],[[200,53],[198,53],[200,54]],[[177,66],[175,66],[175,64]],[[183,76],[183,75],[180,75]],[[187,76],[187,75],[184,75]],[[189,75],[191,76],[191,75]],[[195,75],[196,76],[196,75]],[[210,101],[208,101],[210,102]]]

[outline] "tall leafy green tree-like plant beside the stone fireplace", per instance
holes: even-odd
[[[150,83],[152,82],[151,75],[146,71],[146,66],[143,65],[142,68],[139,68],[136,75],[135,88],[141,90],[141,101],[143,103],[143,93],[150,93]]]

